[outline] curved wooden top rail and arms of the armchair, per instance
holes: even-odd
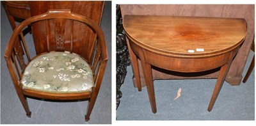
[[[97,80],[95,82],[95,84],[96,84],[96,86],[97,85],[100,86],[100,83],[102,81],[102,77],[104,74],[104,70],[106,68],[106,62],[108,61],[108,52],[106,49],[106,41],[105,41],[104,34],[102,32],[102,29],[93,20],[88,19],[87,17],[83,17],[82,15],[77,15],[76,13],[72,13],[72,12],[70,12],[70,10],[67,10],[67,9],[60,9],[60,10],[49,10],[48,12],[43,13],[41,15],[36,15],[34,17],[30,17],[30,18],[24,20],[22,23],[20,23],[19,26],[17,26],[17,28],[14,29],[12,36],[10,37],[9,43],[6,47],[6,51],[4,52],[4,58],[6,59],[10,74],[12,76],[13,83],[15,84],[15,88],[18,88],[16,86],[19,85],[19,80],[15,76],[15,71],[14,71],[14,67],[12,64],[12,60],[15,60],[15,59],[13,59],[12,55],[13,55],[13,50],[15,50],[15,46],[17,46],[17,44],[18,44],[17,39],[19,38],[19,36],[23,36],[22,29],[24,29],[26,26],[28,26],[29,24],[32,24],[34,22],[38,22],[40,20],[47,20],[47,19],[76,20],[76,21],[86,24],[97,34],[98,44],[100,47],[100,60],[99,60],[100,62],[99,62],[99,70],[95,74],[97,76],[97,77],[95,77],[95,81]],[[21,46],[21,45],[18,45],[18,47],[19,46]],[[28,49],[26,49],[26,46],[24,46],[24,49],[26,50],[26,54],[27,54]],[[27,54],[27,56],[28,55],[29,54]],[[23,62],[24,62],[24,60],[23,60]],[[24,63],[25,67],[26,67],[26,64],[27,63]],[[20,66],[20,67],[22,69],[22,72],[24,72],[22,66]],[[17,69],[18,68],[16,67],[16,70]],[[19,74],[19,70],[17,70],[17,71]],[[21,72],[21,74],[22,74],[22,72]],[[21,75],[19,75],[19,76],[21,76]],[[98,83],[98,81],[99,81],[99,83]]]

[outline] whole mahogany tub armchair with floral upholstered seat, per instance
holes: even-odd
[[[31,58],[22,29],[31,26],[33,33],[37,23],[44,23],[41,29],[45,29],[47,44],[42,47],[47,46],[47,51]],[[79,34],[74,24],[78,29],[88,26],[95,33],[95,39],[79,42],[73,37]],[[104,33],[93,20],[70,10],[49,10],[30,17],[14,29],[4,58],[29,118],[28,96],[50,100],[88,99],[85,120],[90,120],[108,61]]]

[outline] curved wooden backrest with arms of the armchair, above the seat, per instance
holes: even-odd
[[[45,27],[42,27],[42,29],[45,29],[46,31],[47,52],[70,51],[76,53],[76,51],[74,51],[74,46],[78,46],[83,50],[84,53],[86,53],[86,56],[83,56],[83,54],[79,55],[83,56],[83,58],[87,61],[91,60],[89,61],[89,64],[92,67],[93,74],[95,74],[94,80],[96,80],[96,76],[99,74],[99,69],[104,69],[106,67],[106,61],[108,60],[108,52],[106,49],[106,42],[102,29],[100,29],[99,25],[95,24],[93,20],[81,15],[77,15],[76,13],[71,13],[70,10],[65,9],[49,10],[47,13],[43,13],[42,15],[30,17],[29,19],[24,20],[19,26],[17,26],[17,28],[14,29],[4,53],[4,57],[6,58],[12,79],[17,80],[17,78],[13,76],[15,74],[13,70],[14,67],[16,68],[16,72],[20,78],[24,72],[24,69],[26,68],[26,65],[29,63],[29,61],[31,61],[28,47],[24,40],[24,36],[22,35],[22,29],[31,25],[33,31],[33,24],[42,21],[45,22]],[[73,40],[72,36],[79,33],[74,31],[72,25],[65,26],[65,22],[71,22],[71,24],[73,24],[73,22],[81,22],[80,25],[84,24],[91,28],[93,32],[95,32],[98,38],[97,41],[86,43],[87,45],[90,45],[91,49],[86,49],[86,47],[84,47],[86,45],[74,44],[79,42]],[[69,33],[69,35],[67,35],[67,33]],[[19,38],[21,42],[19,42]],[[65,38],[70,38],[70,40],[67,42],[64,40]],[[23,57],[25,54],[24,51],[26,52],[28,63],[25,63]],[[19,68],[17,67],[18,65],[16,59],[19,62],[21,72],[19,72]],[[102,64],[104,67],[99,68]]]

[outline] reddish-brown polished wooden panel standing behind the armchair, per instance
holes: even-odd
[[[51,9],[70,9],[72,13],[83,15],[99,25],[104,8],[104,1],[29,1],[29,6],[31,16],[40,15]],[[54,20],[48,20],[48,22],[48,24],[46,24],[45,21],[36,22],[32,25],[36,54],[47,52],[47,44],[49,44],[50,47],[49,51],[54,51],[54,49],[58,47],[55,43],[56,32],[53,30],[54,25],[52,22],[54,22]],[[97,40],[95,32],[88,26],[84,26],[81,22],[77,22],[76,20],[67,20],[65,25],[67,26],[64,29],[65,33],[61,35],[63,36],[61,39],[63,42],[61,44],[63,44],[65,51],[81,54],[83,58],[88,59],[89,63],[92,63],[93,47]],[[45,28],[47,27],[52,30],[45,34]],[[49,43],[47,43],[47,35]],[[70,49],[69,45],[71,43],[73,49]]]

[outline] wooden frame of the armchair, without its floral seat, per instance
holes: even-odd
[[[57,19],[57,20],[56,20]],[[91,28],[93,32],[97,35],[97,42],[94,43],[93,41],[91,43],[94,43],[94,46],[92,47],[93,49],[90,50],[85,50],[86,51],[91,51],[89,53],[94,54],[92,56],[93,63],[89,63],[90,67],[96,67],[92,68],[93,69],[93,81],[95,83],[95,86],[92,87],[92,91],[90,92],[81,92],[81,93],[48,93],[48,92],[42,92],[42,91],[35,91],[35,90],[22,90],[22,83],[20,82],[24,68],[28,65],[28,63],[31,61],[30,56],[29,56],[29,50],[26,47],[26,42],[24,38],[22,38],[22,42],[19,41],[19,36],[22,35],[22,29],[26,28],[26,26],[29,26],[35,22],[39,21],[44,21],[47,22],[49,21],[48,25],[52,25],[54,27],[46,27],[49,31],[56,31],[56,33],[60,33],[61,35],[65,35],[67,32],[66,30],[63,30],[64,28],[67,28],[65,26],[65,23],[59,24],[61,22],[65,21],[77,21],[80,22],[80,25],[84,25],[88,28]],[[54,25],[54,20],[55,20],[55,25]],[[65,20],[65,21],[63,21]],[[56,24],[56,22],[58,22]],[[72,26],[69,26],[72,27]],[[32,26],[32,29],[33,26]],[[70,28],[69,28],[70,29]],[[72,30],[72,29],[70,29]],[[64,33],[62,33],[64,32]],[[72,35],[76,35],[76,33],[72,33]],[[71,35],[71,36],[72,36]],[[70,36],[70,35],[69,35]],[[55,36],[54,36],[55,37]],[[76,48],[81,48],[83,49],[82,46],[80,47],[75,47],[74,45],[72,46],[72,43],[66,44],[65,46],[61,46],[61,38],[60,36],[56,37],[56,40],[48,40],[49,43],[55,43],[54,45],[57,45],[56,43],[59,43],[58,46],[51,47],[51,44],[47,44],[49,47],[46,46],[47,49],[54,49],[54,51],[66,51],[69,49],[72,49],[73,51],[76,50]],[[47,35],[46,38],[49,38],[49,35]],[[72,38],[72,37],[71,37]],[[18,41],[17,41],[18,40]],[[27,58],[29,58],[28,61],[24,60],[24,56],[22,54],[21,49],[24,48],[26,52]],[[52,50],[51,50],[52,51]],[[49,52],[49,51],[47,51]],[[44,54],[47,52],[43,52],[40,54]],[[40,56],[40,54],[36,55],[34,58],[37,56]],[[75,54],[75,53],[74,53]],[[78,53],[76,53],[78,54]],[[81,53],[84,54],[84,53]],[[79,54],[79,55],[81,55]],[[31,116],[31,112],[28,107],[28,103],[26,100],[27,96],[31,97],[37,97],[37,98],[48,98],[48,99],[53,99],[53,100],[77,100],[77,99],[84,99],[88,98],[90,102],[88,102],[88,110],[87,114],[85,116],[85,120],[88,121],[90,120],[90,114],[92,113],[93,106],[95,104],[95,100],[97,98],[97,95],[100,90],[100,85],[102,82],[102,78],[104,75],[104,70],[106,68],[106,63],[108,61],[108,52],[106,48],[106,41],[104,38],[104,33],[102,32],[102,29],[100,29],[99,25],[96,24],[93,20],[88,19],[87,17],[83,17],[82,15],[78,15],[76,13],[70,12],[70,10],[49,10],[47,13],[43,13],[42,15],[37,15],[35,17],[30,17],[26,20],[24,20],[22,23],[20,23],[17,28],[14,29],[12,36],[10,37],[10,41],[6,47],[6,51],[4,52],[4,58],[6,59],[6,63],[8,66],[8,70],[10,72],[10,75],[12,77],[12,81],[15,87],[15,90],[17,91],[17,94],[20,98],[20,102],[22,103],[22,106],[24,107],[26,114],[28,117]],[[32,60],[34,58],[31,58]],[[94,60],[94,58],[96,58]],[[88,58],[84,58],[86,61],[88,61]],[[21,68],[21,70],[19,70]]]

